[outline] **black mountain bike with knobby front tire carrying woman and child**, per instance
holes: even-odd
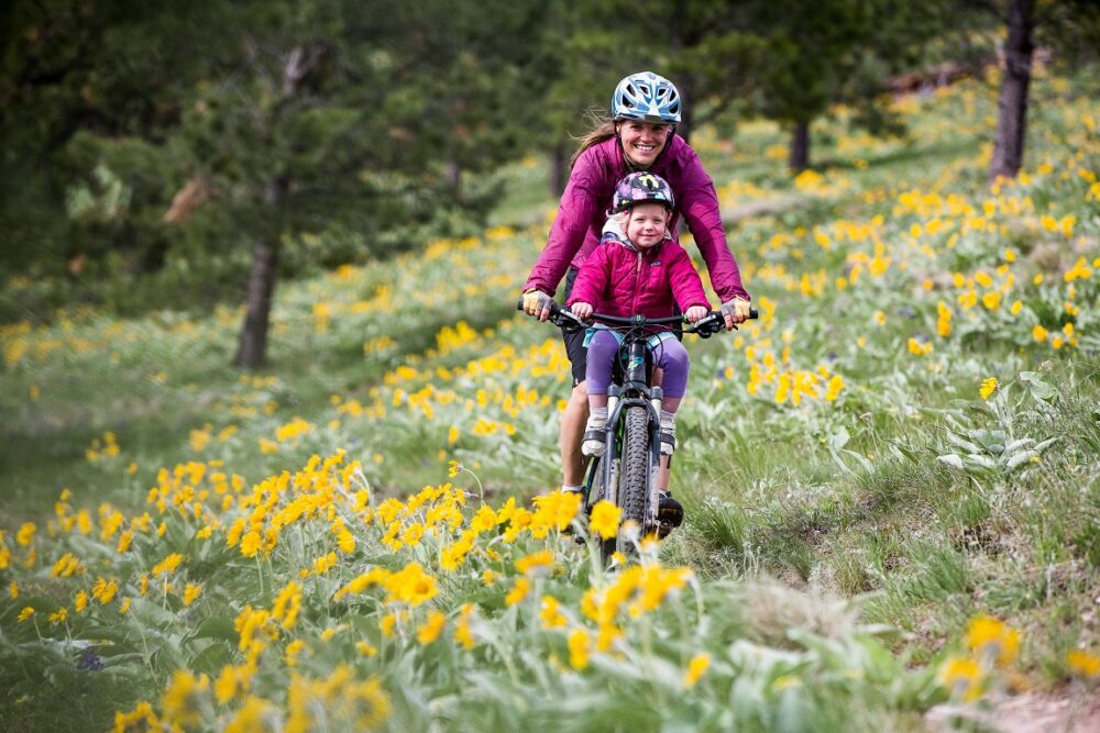
[[[756,309],[749,318],[758,316]],[[551,303],[549,321],[564,331],[590,327],[588,321],[598,321],[619,331],[623,343],[607,390],[606,449],[596,457],[586,471],[583,506],[586,512],[601,499],[622,509],[619,531],[610,540],[600,538],[600,549],[605,562],[613,553],[631,553],[638,536],[657,534],[667,536],[674,527],[658,517],[658,471],[661,462],[661,398],[659,386],[652,386],[653,354],[647,343],[653,327],[671,326],[683,322],[683,316],[647,319],[641,315],[624,318],[593,313],[581,320],[568,308]],[[683,330],[701,338],[710,338],[725,329],[721,312],[711,311]],[[670,329],[671,330],[671,329]],[[634,523],[640,534],[630,536]]]

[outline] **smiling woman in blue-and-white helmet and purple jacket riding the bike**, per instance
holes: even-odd
[[[547,246],[524,286],[528,315],[543,321],[549,318],[550,301],[562,278],[564,298],[569,299],[578,270],[600,244],[616,184],[631,171],[646,170],[669,182],[678,202],[669,229],[676,232],[681,214],[686,220],[711,285],[722,300],[726,327],[748,318],[750,298],[726,243],[714,182],[695,151],[675,134],[681,113],[680,93],[664,77],[642,71],[619,81],[612,96],[610,120],[590,132],[573,156]],[[588,418],[584,334],[565,334],[563,338],[573,367],[573,393],[561,419],[562,489],[579,491],[584,480],[581,438]],[[662,519],[675,526],[683,519],[683,509],[668,496],[667,486],[661,489]]]

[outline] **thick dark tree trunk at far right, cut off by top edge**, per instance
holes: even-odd
[[[1004,43],[1000,112],[989,179],[1015,178],[1024,162],[1027,126],[1027,87],[1031,85],[1032,37],[1035,30],[1034,0],[1010,0],[1009,37]]]

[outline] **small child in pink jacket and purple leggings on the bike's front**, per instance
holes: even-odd
[[[632,173],[616,186],[612,210],[600,246],[584,262],[566,304],[574,314],[587,318],[593,311],[608,315],[667,318],[675,306],[694,323],[710,311],[703,281],[688,253],[669,232],[675,201],[668,182],[650,173]],[[664,377],[661,384],[661,470],[675,446],[675,413],[688,387],[688,352],[669,331],[650,336],[653,362]],[[607,423],[607,387],[618,355],[619,338],[614,331],[595,329],[587,343],[585,381],[588,391],[588,421],[581,451],[604,453]],[[662,477],[662,479],[666,477]],[[662,481],[661,486],[667,486]],[[674,504],[674,507],[672,506]],[[679,525],[680,502],[669,495],[661,498],[661,514]]]

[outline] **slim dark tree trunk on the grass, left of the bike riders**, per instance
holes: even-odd
[[[286,192],[284,179],[273,181],[267,187],[266,203],[273,212]],[[252,274],[249,276],[249,304],[241,326],[241,337],[237,345],[233,365],[245,369],[257,369],[267,360],[267,326],[271,322],[272,296],[278,274],[279,254],[278,226],[273,226],[253,251]]]

